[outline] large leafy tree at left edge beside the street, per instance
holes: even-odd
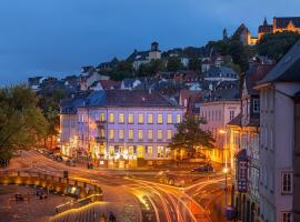
[[[1,162],[46,135],[48,123],[37,102],[36,93],[26,85],[0,89]]]

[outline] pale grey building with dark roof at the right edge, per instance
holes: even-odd
[[[300,221],[299,175],[294,174],[296,171],[299,172],[299,168],[296,168],[299,155],[299,150],[296,149],[299,149],[299,144],[296,141],[299,141],[299,134],[294,131],[294,95],[300,91],[299,67],[300,41],[258,85],[261,98],[261,221]]]

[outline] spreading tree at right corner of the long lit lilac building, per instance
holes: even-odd
[[[180,153],[184,151],[189,158],[194,155],[199,147],[212,149],[214,139],[210,131],[201,129],[201,124],[206,124],[203,119],[198,120],[194,117],[186,117],[181,123],[176,125],[177,133],[169,147]]]

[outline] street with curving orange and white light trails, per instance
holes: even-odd
[[[221,215],[223,209],[216,208],[216,196],[222,193],[223,176],[216,174],[203,176],[197,183],[187,188],[176,188],[160,184],[149,179],[150,172],[122,175],[113,170],[88,170],[81,167],[68,167],[64,163],[50,160],[37,151],[23,151],[13,159],[6,170],[26,170],[49,174],[62,174],[68,170],[70,178],[97,182],[103,190],[106,202],[113,204],[117,218],[122,215],[127,221],[151,222],[189,222],[212,221],[211,218]],[[0,171],[1,172],[1,171]],[[130,211],[129,211],[130,209]],[[91,211],[91,210],[89,210]],[[133,215],[133,218],[132,218]],[[218,218],[218,216],[217,216]],[[220,215],[218,220],[221,220]],[[126,220],[124,220],[126,221]]]

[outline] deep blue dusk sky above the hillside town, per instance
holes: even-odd
[[[300,0],[1,0],[0,85],[63,78],[134,49],[201,47],[244,23],[300,16]]]

